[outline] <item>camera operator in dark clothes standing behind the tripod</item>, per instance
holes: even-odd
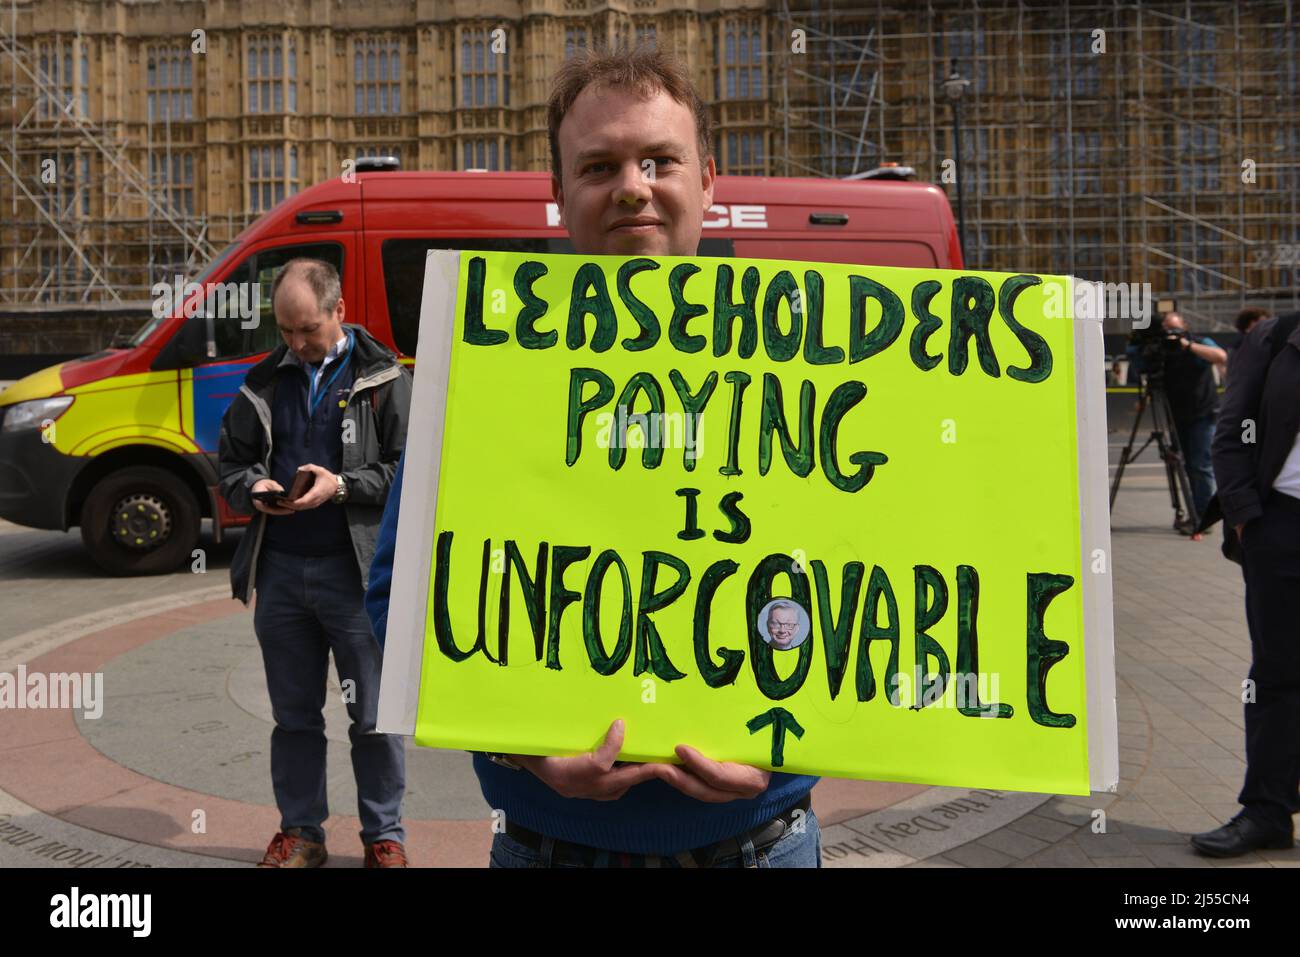
[[[1208,335],[1188,333],[1187,324],[1176,312],[1167,313],[1164,325],[1166,334],[1176,341],[1175,351],[1165,358],[1165,393],[1192,484],[1192,505],[1197,515],[1204,515],[1214,495],[1214,467],[1210,463],[1210,441],[1218,415],[1214,367],[1227,361],[1227,352]]]

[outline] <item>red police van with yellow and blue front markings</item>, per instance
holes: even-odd
[[[248,368],[280,343],[270,303],[254,321],[202,306],[198,287],[247,289],[290,259],[333,263],[348,322],[415,356],[429,248],[572,252],[546,173],[404,173],[360,161],[355,177],[290,196],[194,280],[124,348],[20,380],[0,393],[0,516],[79,525],[107,571],[172,571],[202,521],[216,541],[248,521],[217,493],[221,416]],[[941,190],[897,179],[718,177],[703,256],[959,268]],[[156,289],[157,291],[157,289]]]

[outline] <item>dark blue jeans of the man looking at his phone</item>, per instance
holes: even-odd
[[[276,728],[270,732],[270,780],[281,830],[300,827],[324,841],[325,681],[329,655],[352,719],[361,841],[406,840],[402,794],[406,750],[399,735],[374,731],[384,653],[361,606],[361,575],[351,553],[292,555],[264,549],[257,557],[254,628],[266,666]]]

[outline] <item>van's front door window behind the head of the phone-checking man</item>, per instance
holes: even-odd
[[[325,260],[338,269],[341,278],[343,276],[343,247],[339,243],[278,246],[252,254],[224,282],[218,283],[224,289],[213,290],[208,295],[208,308],[214,320],[217,359],[260,355],[281,343],[280,330],[276,328],[276,315],[270,308],[270,283],[276,281],[276,273],[280,272],[280,268],[298,256]],[[244,319],[243,307],[246,304],[251,307],[254,303],[252,287],[248,285],[251,282],[259,283],[257,313]],[[222,308],[222,302],[226,303],[225,308]],[[348,303],[348,306],[352,304]],[[344,321],[348,321],[347,316],[344,316]]]

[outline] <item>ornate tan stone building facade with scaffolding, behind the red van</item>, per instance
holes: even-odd
[[[838,178],[893,161],[956,205],[954,169],[970,265],[1149,282],[1196,328],[1223,328],[1247,304],[1300,308],[1295,4],[517,0],[497,16],[519,52],[485,66],[467,51],[491,25],[424,0],[332,7],[311,25],[296,14],[312,0],[285,0],[282,22],[251,26],[192,0],[9,0],[0,303],[146,298],[374,144],[408,166],[545,169],[537,117],[563,51],[649,36],[711,101],[720,172]],[[176,25],[190,22],[220,53],[188,55]],[[192,78],[146,77],[151,44]],[[954,66],[970,81],[959,148],[942,90]],[[157,88],[192,92],[192,113],[146,109]]]

